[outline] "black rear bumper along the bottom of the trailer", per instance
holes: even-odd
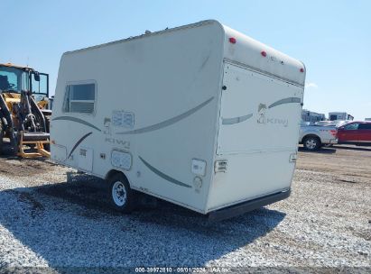
[[[209,222],[218,222],[221,220],[229,219],[237,215],[243,215],[246,212],[255,210],[264,205],[270,205],[275,202],[281,201],[291,194],[291,189],[279,193],[274,193],[269,196],[264,196],[250,200],[241,204],[231,205],[226,208],[218,209],[209,213]]]

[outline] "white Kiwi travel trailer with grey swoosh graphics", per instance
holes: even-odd
[[[290,195],[305,68],[205,21],[66,52],[51,159],[219,220]]]

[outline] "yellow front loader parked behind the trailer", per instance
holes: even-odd
[[[50,157],[49,75],[0,64],[0,152],[6,139],[23,158]]]

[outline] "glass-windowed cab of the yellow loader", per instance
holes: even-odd
[[[36,102],[49,97],[49,75],[32,68],[0,64],[0,92],[21,94],[30,90]]]

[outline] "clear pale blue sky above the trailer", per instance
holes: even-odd
[[[64,51],[217,19],[307,68],[304,108],[371,117],[371,1],[0,0],[0,62],[50,74]]]

